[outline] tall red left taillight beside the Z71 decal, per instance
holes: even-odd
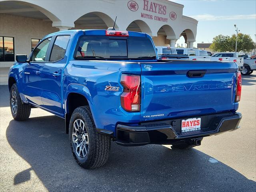
[[[140,111],[140,76],[122,74],[124,92],[121,94],[121,106],[128,112]]]

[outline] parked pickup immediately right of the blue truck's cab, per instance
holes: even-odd
[[[189,57],[186,54],[177,54],[176,49],[167,46],[156,46],[156,51],[159,59],[164,60],[188,60]]]

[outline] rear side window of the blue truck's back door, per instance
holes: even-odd
[[[57,61],[64,58],[69,38],[69,35],[57,36],[52,48],[50,61]]]

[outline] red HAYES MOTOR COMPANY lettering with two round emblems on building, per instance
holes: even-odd
[[[136,1],[129,1],[127,6],[131,11],[137,11],[139,9],[139,5]],[[144,12],[141,12],[140,16],[146,19],[156,20],[160,22],[168,22],[169,18],[171,20],[176,20],[177,18],[177,15],[175,12],[170,12],[169,18],[168,18],[168,16],[166,16],[165,5],[159,4],[153,1],[149,1],[149,0],[144,0],[143,10]]]

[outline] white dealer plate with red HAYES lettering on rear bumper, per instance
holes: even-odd
[[[181,121],[181,132],[201,130],[201,118],[183,119]]]

